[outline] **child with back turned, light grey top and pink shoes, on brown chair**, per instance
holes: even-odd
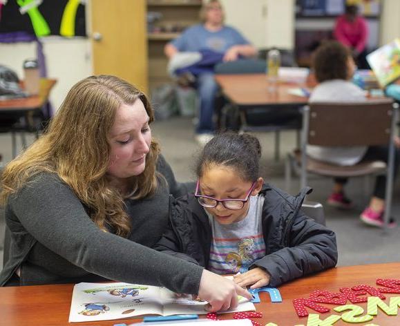
[[[356,66],[350,51],[337,41],[327,41],[314,55],[314,71],[318,86],[314,88],[309,102],[365,102],[365,92],[350,81]],[[398,141],[396,139],[395,141]],[[395,152],[394,175],[399,166],[399,151]],[[307,146],[307,155],[315,160],[350,166],[361,160],[388,160],[388,146]],[[327,203],[342,209],[352,208],[352,202],[345,196],[347,178],[335,178],[334,189]],[[360,218],[363,222],[380,227],[383,225],[385,207],[385,175],[377,176],[370,204]],[[390,220],[390,227],[396,224]]]

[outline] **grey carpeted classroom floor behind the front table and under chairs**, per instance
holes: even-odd
[[[193,158],[199,150],[193,138],[191,119],[173,117],[152,126],[153,137],[161,144],[162,153],[171,164],[179,181],[195,180]],[[280,160],[274,160],[274,133],[257,133],[263,145],[263,178],[267,182],[284,188],[285,156],[296,144],[296,133],[285,131],[281,133]],[[10,160],[10,135],[0,135],[0,148],[4,160]],[[371,180],[371,186],[374,182]],[[347,195],[352,198],[355,208],[351,211],[339,211],[325,205],[330,195],[332,180],[327,178],[309,178],[309,186],[314,189],[308,200],[321,202],[325,208],[327,227],[336,232],[339,247],[338,265],[361,265],[374,262],[399,261],[400,227],[383,233],[381,229],[368,227],[359,220],[359,213],[368,202],[363,189],[363,179],[352,179],[347,184]],[[298,178],[294,178],[290,193],[298,191]],[[394,185],[392,215],[400,224],[400,180]],[[3,214],[0,215],[0,244],[3,243]],[[3,254],[0,245],[0,269]]]

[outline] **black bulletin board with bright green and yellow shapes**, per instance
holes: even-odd
[[[0,33],[86,36],[84,0],[0,0]]]

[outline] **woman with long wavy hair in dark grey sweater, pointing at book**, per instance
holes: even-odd
[[[1,176],[11,243],[0,285],[106,278],[198,294],[211,310],[249,298],[234,282],[148,248],[176,186],[151,122],[149,100],[126,81],[93,76],[73,86],[48,131]]]

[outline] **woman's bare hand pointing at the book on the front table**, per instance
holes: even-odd
[[[208,301],[207,311],[235,309],[238,307],[238,296],[252,299],[251,294],[234,281],[203,270],[198,297]]]

